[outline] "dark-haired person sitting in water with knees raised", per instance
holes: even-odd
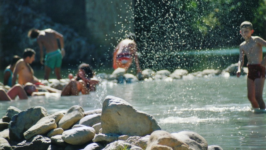
[[[80,64],[75,77],[71,73],[68,75],[70,82],[62,89],[61,96],[79,95],[79,92],[89,94],[95,91],[95,86],[99,84],[99,81],[94,78],[94,75],[89,64]]]

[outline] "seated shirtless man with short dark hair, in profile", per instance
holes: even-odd
[[[40,80],[34,76],[33,69],[30,64],[35,60],[35,51],[31,48],[26,48],[23,53],[23,59],[17,61],[13,76],[12,76],[12,85],[16,84],[17,74],[18,83],[23,85],[27,82],[31,82],[33,84],[40,83]]]

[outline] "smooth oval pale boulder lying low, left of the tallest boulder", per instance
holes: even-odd
[[[72,145],[82,145],[88,143],[95,136],[95,130],[92,127],[79,127],[66,130],[62,133],[62,139]]]

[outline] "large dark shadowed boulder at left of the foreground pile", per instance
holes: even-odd
[[[47,116],[46,109],[41,106],[31,107],[14,115],[9,123],[10,140],[18,142],[24,140],[23,133],[45,116]]]

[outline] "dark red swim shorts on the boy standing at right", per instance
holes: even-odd
[[[247,65],[249,69],[248,78],[255,80],[257,78],[263,77],[265,79],[265,67],[260,64]]]

